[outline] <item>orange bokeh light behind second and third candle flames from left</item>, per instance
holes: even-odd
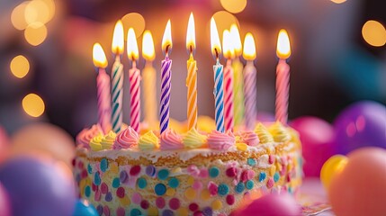
[[[138,14],[138,13],[126,14],[121,18],[121,21],[123,23],[125,40],[127,40],[127,37],[128,37],[127,33],[130,28],[133,28],[133,30],[135,31],[135,35],[137,36],[137,39],[145,30],[145,18],[143,18],[141,14]]]

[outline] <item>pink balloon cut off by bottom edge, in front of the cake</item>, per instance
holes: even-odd
[[[232,216],[245,215],[301,215],[301,206],[288,193],[268,193],[265,196],[251,202],[244,209],[234,211]]]

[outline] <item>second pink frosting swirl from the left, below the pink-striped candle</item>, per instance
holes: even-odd
[[[122,130],[115,139],[112,149],[133,148],[138,145],[139,135],[130,126]]]

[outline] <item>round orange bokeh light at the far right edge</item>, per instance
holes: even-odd
[[[382,23],[367,21],[362,28],[364,40],[373,47],[382,47],[386,43],[386,30]]]

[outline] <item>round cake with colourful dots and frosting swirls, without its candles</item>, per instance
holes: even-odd
[[[74,175],[81,198],[100,215],[229,215],[246,196],[296,193],[301,143],[280,122],[255,130],[143,130],[76,138]]]

